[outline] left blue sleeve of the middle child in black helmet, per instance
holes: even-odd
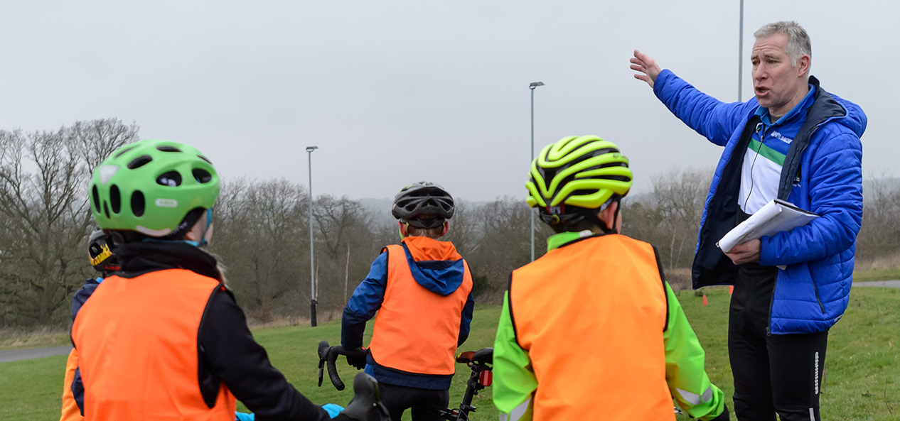
[[[369,269],[365,280],[353,291],[341,318],[341,346],[357,349],[363,346],[365,322],[374,318],[382,308],[384,289],[387,287],[387,253],[379,255]]]

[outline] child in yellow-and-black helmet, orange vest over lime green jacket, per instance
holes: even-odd
[[[628,160],[596,136],[547,146],[527,202],[556,235],[510,277],[494,345],[500,419],[727,420],[656,249],[618,234]]]

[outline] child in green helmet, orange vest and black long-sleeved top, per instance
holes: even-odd
[[[142,140],[112,152],[88,185],[121,271],[78,312],[72,341],[92,420],[327,420],[269,363],[225,288],[212,235],[219,175],[200,151]],[[335,419],[348,417],[347,411]]]

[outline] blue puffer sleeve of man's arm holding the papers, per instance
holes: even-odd
[[[856,241],[862,224],[862,144],[850,132],[826,136],[809,169],[810,210],[819,214],[803,227],[760,239],[760,264],[796,264],[837,255]]]

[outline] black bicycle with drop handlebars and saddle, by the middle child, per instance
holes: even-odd
[[[344,390],[344,382],[340,380],[338,369],[335,366],[338,355],[362,357],[365,354],[365,350],[348,351],[341,346],[329,346],[328,341],[321,341],[319,343],[319,386],[322,386],[324,368],[327,366],[331,384],[338,390]],[[493,348],[482,348],[478,351],[467,351],[456,355],[456,363],[466,364],[472,369],[472,374],[466,381],[465,394],[459,408],[443,408],[437,414],[439,417],[447,421],[467,421],[469,419],[469,413],[477,409],[472,405],[472,399],[478,395],[480,390],[491,386],[493,382],[493,355]]]

